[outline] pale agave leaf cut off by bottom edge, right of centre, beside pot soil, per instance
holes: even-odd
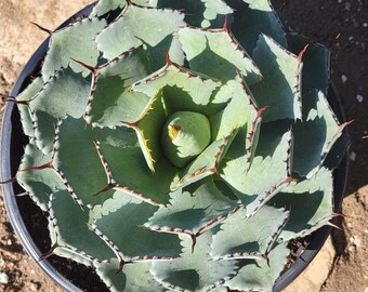
[[[277,244],[266,261],[244,260],[238,274],[225,282],[234,291],[273,291],[273,286],[288,262],[290,250],[286,243]]]

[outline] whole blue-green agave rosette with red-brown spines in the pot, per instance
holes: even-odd
[[[328,67],[267,0],[101,0],[52,32],[14,98],[43,257],[111,291],[272,291],[288,242],[336,216]]]

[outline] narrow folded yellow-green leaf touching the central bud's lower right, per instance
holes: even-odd
[[[171,184],[171,190],[190,185],[208,175],[219,173],[219,165],[236,136],[237,129],[221,140],[212,142],[199,156],[185,167]]]

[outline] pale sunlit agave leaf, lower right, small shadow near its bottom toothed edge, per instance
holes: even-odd
[[[211,257],[265,260],[289,215],[285,209],[264,205],[247,217],[247,211],[240,208],[222,222],[221,230],[213,236]]]

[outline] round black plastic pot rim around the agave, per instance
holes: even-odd
[[[84,8],[71,18],[66,21],[60,28],[68,25],[73,19],[88,15],[92,10],[93,4]],[[21,76],[18,77],[11,95],[16,96],[26,85],[29,83],[29,77],[39,70],[39,64],[41,63],[43,56],[45,55],[48,49],[49,39],[47,39],[41,47],[36,51],[32,57],[29,59]],[[328,94],[329,101],[332,107],[338,111],[338,116],[342,117],[342,110],[340,103],[333,92],[330,89]],[[14,177],[19,165],[19,161],[24,151],[24,145],[27,143],[26,137],[23,135],[23,130],[19,121],[19,115],[17,108],[13,103],[8,103],[5,106],[2,132],[1,132],[1,144],[0,144],[0,158],[1,158],[1,181],[10,180]],[[340,210],[340,205],[343,198],[345,181],[346,181],[346,169],[347,159],[346,156],[343,158],[340,167],[334,171],[334,207],[336,211]],[[73,284],[68,279],[60,274],[54,266],[48,261],[38,260],[41,256],[39,247],[35,243],[26,228],[25,221],[22,216],[18,199],[16,198],[16,188],[18,186],[16,183],[9,183],[3,185],[3,196],[5,209],[10,222],[21,239],[21,242],[26,250],[26,252],[38,263],[41,269],[50,276],[50,278],[57,283],[61,288],[66,291],[81,292],[79,288]],[[328,235],[330,234],[331,227],[323,227],[316,233],[312,234],[310,237],[310,244],[302,255],[291,265],[291,267],[279,277],[274,287],[274,292],[284,290],[289,283],[291,283],[312,262],[316,256],[320,248],[324,245]],[[82,276],[82,275],[81,275]],[[82,276],[84,277],[84,276]]]

